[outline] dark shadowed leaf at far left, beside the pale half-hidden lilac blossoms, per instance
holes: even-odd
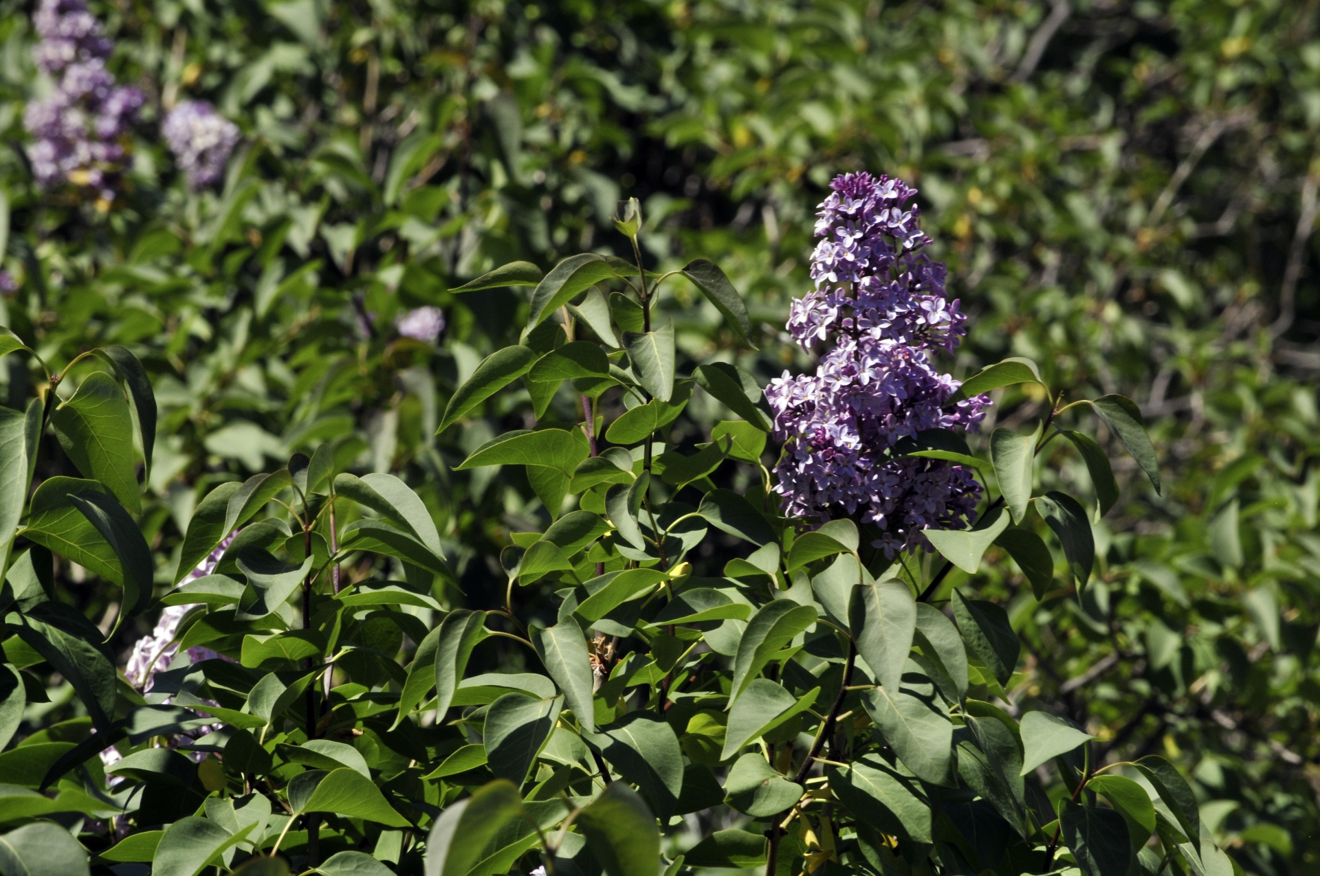
[[[100,631],[78,610],[54,602],[13,612],[5,624],[74,686],[96,730],[108,734],[119,683],[100,648]]]

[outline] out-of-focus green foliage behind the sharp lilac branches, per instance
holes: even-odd
[[[206,489],[329,441],[418,485],[455,558],[450,600],[483,604],[499,546],[544,512],[512,472],[450,466],[529,406],[503,394],[432,434],[516,340],[527,296],[449,289],[513,259],[623,255],[609,218],[636,197],[653,266],[705,256],[748,298],[760,350],[738,363],[766,381],[809,365],[783,323],[828,181],[900,175],[972,314],[953,372],[1028,356],[1071,397],[1129,394],[1162,454],[1163,496],[1119,471],[1082,603],[1038,603],[1010,563],[965,582],[1011,603],[1030,645],[1014,704],[1048,703],[1114,756],[1173,759],[1246,872],[1316,872],[1320,3],[90,5],[112,70],[148,95],[110,211],[34,186],[34,4],[0,0],[0,257],[20,285],[0,323],[57,367],[107,343],[148,364],[162,582]],[[199,194],[158,136],[183,98],[244,135]],[[681,354],[727,359],[690,293],[660,305]],[[395,328],[422,305],[445,311],[437,344]],[[16,358],[0,372],[30,393]],[[701,404],[675,443],[715,418]],[[1043,405],[1010,389],[987,426]],[[1080,460],[1063,472],[1089,491]]]

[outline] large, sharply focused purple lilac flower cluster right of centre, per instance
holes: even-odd
[[[945,266],[916,194],[902,179],[843,174],[820,206],[812,256],[816,289],[793,302],[788,330],[807,350],[828,342],[814,375],[772,380],[766,398],[785,453],[775,491],[789,515],[829,520],[862,512],[891,559],[925,546],[923,529],[968,525],[981,485],[961,466],[892,455],[924,429],[973,429],[986,396],[950,404],[961,385],[932,363],[966,334],[944,294]]]

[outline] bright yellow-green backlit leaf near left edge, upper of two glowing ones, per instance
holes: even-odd
[[[84,478],[103,483],[133,513],[143,512],[133,471],[133,418],[114,377],[104,371],[87,375],[73,397],[55,406],[50,425]]]

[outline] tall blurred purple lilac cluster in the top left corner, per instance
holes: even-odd
[[[28,150],[33,174],[42,186],[71,182],[114,201],[143,92],[117,84],[106,69],[111,42],[83,0],[41,0],[33,24],[41,37],[33,57],[55,78],[54,92],[22,113],[37,140]]]

